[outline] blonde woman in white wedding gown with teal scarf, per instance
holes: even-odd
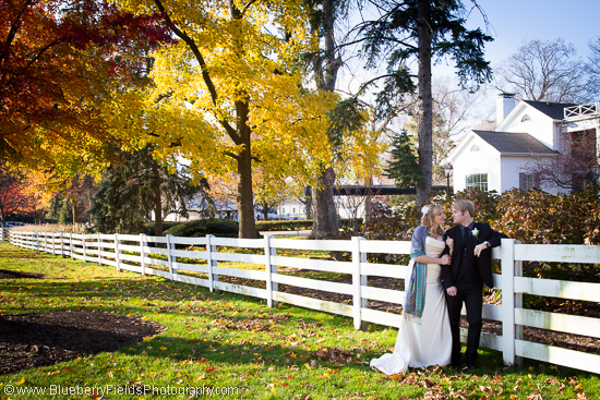
[[[444,211],[439,205],[430,205],[421,213],[421,226],[412,234],[410,279],[407,276],[405,280],[406,302],[396,347],[393,353],[371,361],[371,367],[387,375],[409,366],[451,363],[452,332],[441,275],[441,265],[449,265],[451,257],[440,257],[445,247]],[[452,251],[452,242],[448,246]]]

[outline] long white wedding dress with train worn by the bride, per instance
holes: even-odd
[[[444,242],[430,237],[425,239],[425,255],[439,257],[443,250]],[[435,364],[444,366],[451,363],[451,353],[452,332],[442,286],[442,270],[440,264],[429,264],[425,307],[421,324],[403,318],[394,352],[372,360],[371,367],[393,375],[407,371],[409,366],[413,368]]]

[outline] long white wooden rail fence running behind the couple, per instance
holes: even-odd
[[[403,291],[367,286],[368,276],[404,279],[407,266],[374,264],[367,262],[369,253],[409,254],[410,242],[368,241],[352,238],[351,241],[314,241],[274,239],[226,239],[207,235],[205,238],[177,238],[167,235],[146,237],[130,234],[69,234],[12,231],[12,244],[110,265],[118,270],[127,269],[142,275],[156,275],[173,281],[187,282],[244,295],[265,299],[269,307],[276,302],[325,311],[353,318],[355,328],[363,323],[374,323],[397,327],[401,316],[367,307],[368,300],[401,304]],[[156,244],[160,244],[158,247]],[[201,247],[202,251],[177,250],[182,246]],[[262,254],[235,254],[218,252],[226,247],[261,249]],[[351,262],[307,259],[277,255],[278,249],[332,251],[351,253]],[[135,253],[135,254],[132,254]],[[163,259],[156,256],[163,256]],[[494,287],[502,290],[502,305],[484,304],[483,318],[502,323],[502,336],[482,332],[481,346],[503,352],[506,365],[515,364],[518,357],[528,357],[577,369],[600,373],[600,355],[536,343],[524,340],[524,326],[550,329],[567,334],[600,338],[600,319],[548,313],[521,307],[523,293],[533,295],[600,302],[600,283],[583,283],[562,280],[525,278],[521,276],[521,262],[556,262],[600,264],[600,246],[519,244],[515,240],[503,239],[502,246],[492,253],[501,260],[502,274],[494,275]],[[166,259],[165,259],[166,258]],[[183,263],[184,258],[205,260],[206,264]],[[181,259],[181,260],[179,260]],[[264,265],[264,270],[225,268],[219,262],[240,262]],[[135,265],[131,264],[135,263]],[[316,279],[277,274],[277,266],[302,269],[341,272],[352,276],[351,283],[331,282]],[[156,267],[164,267],[157,269]],[[207,275],[201,279],[179,271],[195,271]],[[248,278],[265,282],[266,289],[219,281],[219,276]],[[344,293],[352,296],[352,305],[278,291],[278,283],[288,286]],[[461,329],[461,340],[466,341],[466,329]]]

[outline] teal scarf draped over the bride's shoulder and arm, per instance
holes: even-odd
[[[410,242],[410,257],[412,262],[420,255],[425,255],[427,228],[418,227],[412,233]],[[421,323],[425,307],[427,264],[413,262],[410,280],[405,281],[406,302],[404,312],[418,324]]]

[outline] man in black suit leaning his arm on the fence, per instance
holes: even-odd
[[[461,199],[452,206],[452,217],[457,226],[444,234],[452,264],[442,266],[442,280],[446,290],[446,303],[452,330],[452,365],[463,368],[460,361],[460,311],[467,307],[469,323],[467,337],[467,368],[475,368],[477,349],[481,336],[483,283],[493,288],[492,247],[500,245],[504,233],[494,231],[488,223],[475,222],[475,206]],[[449,240],[448,240],[449,238]]]

